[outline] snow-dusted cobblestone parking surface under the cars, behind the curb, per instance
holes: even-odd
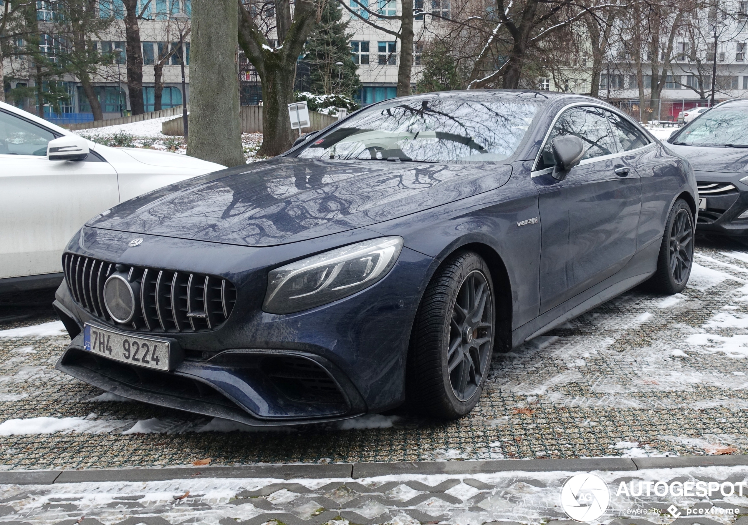
[[[55,371],[66,337],[39,326],[49,313],[7,307],[0,468],[747,453],[748,249],[701,242],[696,263],[681,295],[634,290],[495,356],[479,405],[450,423],[387,414],[247,432],[111,401]]]

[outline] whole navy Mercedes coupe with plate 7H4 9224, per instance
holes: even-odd
[[[597,99],[431,93],[88,221],[58,369],[249,425],[406,400],[455,418],[506,351],[649,280],[681,291],[696,180]]]

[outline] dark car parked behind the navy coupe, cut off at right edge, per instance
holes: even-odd
[[[729,100],[668,139],[684,156],[699,186],[699,231],[748,233],[748,100]]]

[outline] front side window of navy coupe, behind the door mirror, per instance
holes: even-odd
[[[571,108],[563,112],[556,121],[548,142],[543,147],[538,165],[539,170],[552,168],[555,165],[551,141],[556,137],[574,135],[582,139],[586,152],[582,159],[592,159],[617,153],[616,141],[613,139],[610,126],[600,108],[585,107]]]

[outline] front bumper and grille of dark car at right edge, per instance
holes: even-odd
[[[699,198],[706,199],[706,209],[699,210],[699,218],[696,222],[697,231],[729,236],[748,234],[748,217],[738,218],[739,215],[748,211],[748,185],[738,180],[741,176],[745,174],[720,176],[720,174],[696,173]],[[716,193],[710,191],[716,191]]]

